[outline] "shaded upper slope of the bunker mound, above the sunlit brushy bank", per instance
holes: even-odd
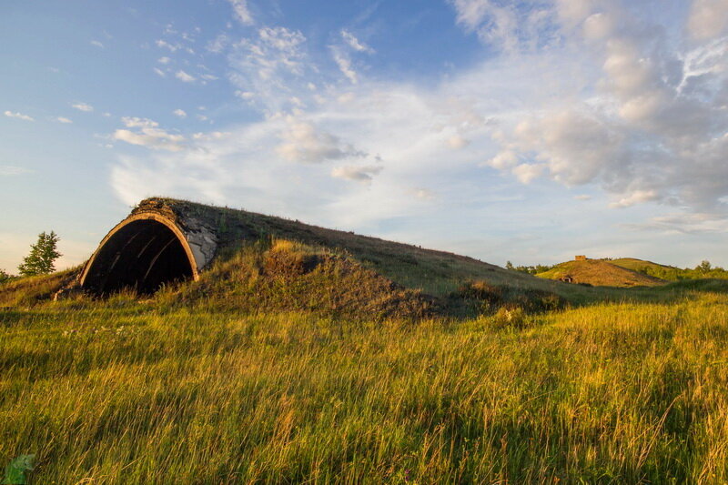
[[[465,282],[476,280],[487,281],[495,286],[549,291],[564,298],[574,295],[583,298],[589,292],[588,288],[574,288],[560,282],[534,278],[475,258],[311,226],[282,217],[169,198],[148,198],[135,209],[150,210],[193,214],[204,220],[207,226],[217,227],[217,260],[233,254],[231,249],[240,248],[245,241],[276,237],[310,247],[327,248],[356,260],[362,267],[376,271],[403,288],[419,289],[436,297],[446,297]]]

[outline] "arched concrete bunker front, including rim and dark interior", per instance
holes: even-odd
[[[133,213],[101,241],[86,263],[80,285],[97,295],[122,288],[150,294],[165,283],[197,279],[215,249],[206,232],[180,226],[157,212]]]

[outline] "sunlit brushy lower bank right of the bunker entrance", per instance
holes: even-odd
[[[347,318],[423,318],[435,311],[432,298],[403,288],[356,261],[276,239],[238,249],[220,258],[198,281],[157,293],[157,300],[194,308],[312,311]]]

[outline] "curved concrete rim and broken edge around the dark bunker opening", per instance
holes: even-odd
[[[194,278],[195,280],[199,278],[200,272],[204,268],[206,268],[212,258],[215,257],[215,252],[217,249],[217,237],[215,237],[214,232],[212,232],[209,228],[203,226],[196,219],[184,221],[187,222],[187,224],[181,226],[177,224],[176,220],[173,220],[171,217],[161,215],[158,212],[135,211],[132,215],[126,217],[126,219],[118,223],[108,232],[108,234],[106,234],[106,237],[101,240],[98,248],[96,248],[96,251],[94,251],[94,254],[91,255],[91,258],[89,258],[88,261],[86,261],[86,265],[84,266],[84,269],[81,272],[81,276],[78,279],[78,283],[81,287],[84,287],[88,272],[94,265],[96,257],[101,252],[101,249],[104,248],[106,242],[111,237],[114,237],[119,229],[137,220],[157,221],[160,224],[164,224],[175,234],[175,236],[177,236],[177,239],[179,239],[179,242],[182,244],[182,248],[185,249],[187,259],[189,260],[190,267],[192,268],[192,278]]]

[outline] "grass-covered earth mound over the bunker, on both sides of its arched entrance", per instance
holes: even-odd
[[[155,297],[176,304],[420,318],[472,315],[483,305],[542,310],[626,298],[449,252],[227,207],[150,198],[133,212],[141,211],[194,217],[215,228],[217,256],[201,278],[164,288]],[[0,288],[0,306],[51,298],[78,271],[16,280]]]

